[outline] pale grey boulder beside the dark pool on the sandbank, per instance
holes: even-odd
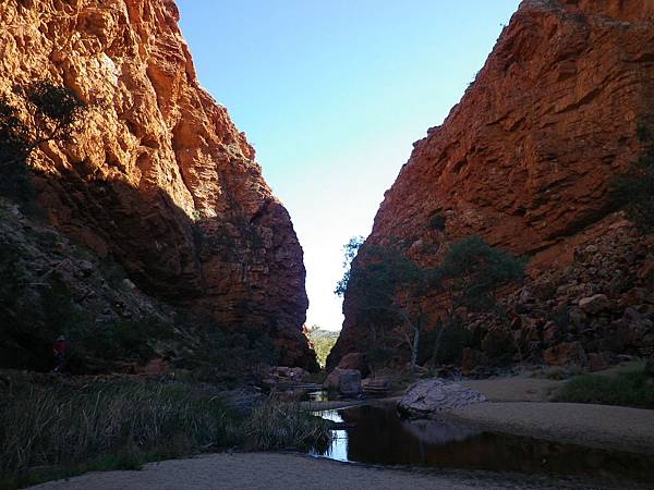
[[[444,379],[426,379],[407,389],[398,411],[410,417],[431,417],[439,412],[485,402],[482,393]]]

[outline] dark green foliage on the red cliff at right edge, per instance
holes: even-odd
[[[641,157],[629,170],[614,179],[613,194],[618,206],[646,233],[654,231],[654,135],[652,124],[639,127],[639,137],[645,145]]]

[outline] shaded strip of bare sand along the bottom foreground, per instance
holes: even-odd
[[[43,490],[547,489],[544,480],[488,474],[380,469],[298,454],[214,454],[149,464],[141,471],[89,473]],[[560,488],[557,485],[557,488]],[[580,488],[580,487],[573,487]]]

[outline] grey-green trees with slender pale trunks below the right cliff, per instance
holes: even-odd
[[[359,252],[354,267],[347,270],[336,294],[343,295],[350,287],[355,291],[358,321],[398,324],[410,346],[413,368],[423,331],[437,331],[432,356],[435,363],[443,334],[455,326],[457,311],[462,307],[469,311],[492,309],[498,292],[520,282],[524,270],[523,260],[479,236],[452,243],[435,267],[409,258],[399,240],[365,246],[351,241],[346,246],[347,257],[354,257],[353,248]]]

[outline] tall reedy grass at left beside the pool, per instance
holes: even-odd
[[[207,388],[119,381],[31,385],[0,402],[0,489],[231,448],[306,449],[323,419],[267,400],[247,415]]]

